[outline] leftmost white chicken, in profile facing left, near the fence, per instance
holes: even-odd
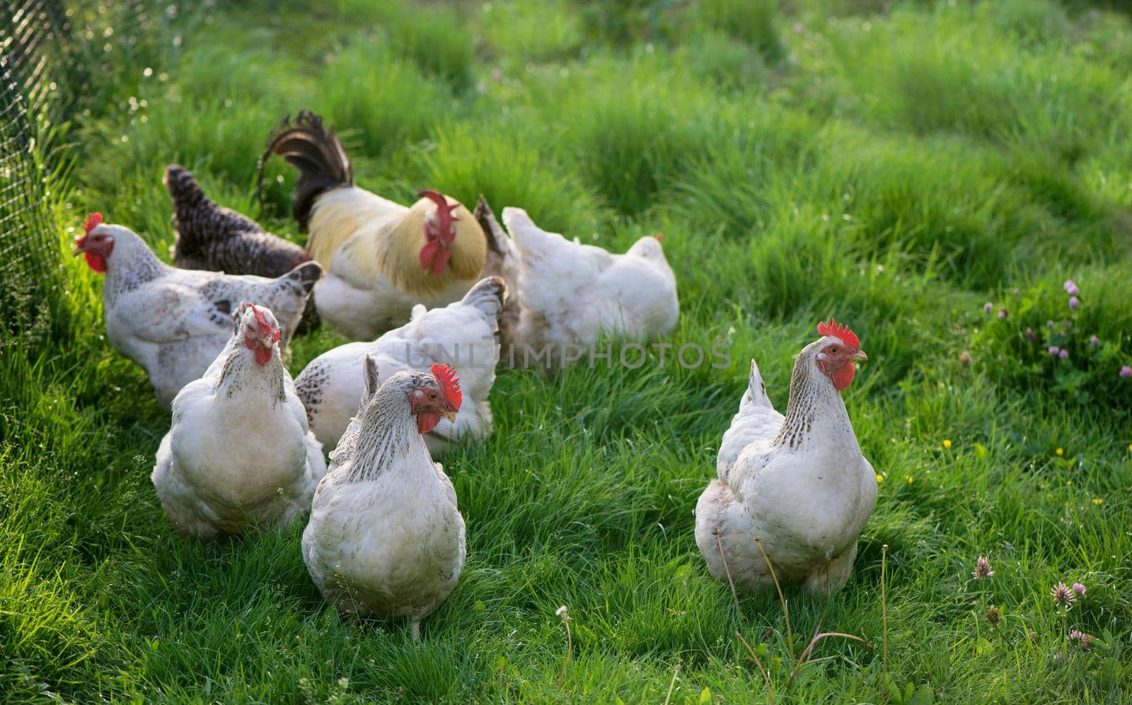
[[[75,255],[80,253],[94,272],[106,275],[102,301],[110,344],[146,371],[165,407],[223,350],[232,312],[243,301],[275,312],[285,351],[323,273],[312,261],[274,280],[179,269],[157,259],[128,227],[103,224],[97,213],[75,242]]]

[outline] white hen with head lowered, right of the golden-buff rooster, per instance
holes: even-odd
[[[517,253],[518,323],[504,341],[513,366],[559,366],[602,333],[645,341],[676,327],[676,276],[660,235],[612,255],[539,229],[522,208],[504,208],[503,222]]]

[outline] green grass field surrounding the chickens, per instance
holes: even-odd
[[[252,194],[268,132],[310,109],[391,197],[483,194],[610,248],[663,231],[671,342],[722,344],[730,366],[500,371],[495,435],[445,461],[469,560],[417,645],[323,602],[301,526],[173,534],[149,482],[169,416],[68,258],[51,316],[0,346],[0,700],[1126,702],[1127,14],[194,5],[145,6],[139,32],[126,10],[76,12],[105,70],[54,184],[60,249],[101,210],[164,255],[172,162],[299,239],[289,167],[269,165],[263,213]],[[784,409],[792,355],[831,315],[869,354],[844,398],[882,482],[846,588],[787,591],[790,644],[777,595],[736,604],[710,578],[692,510],[748,360]],[[291,370],[338,342],[297,341]],[[994,576],[975,581],[979,556]],[[1058,582],[1088,592],[1058,609]],[[824,639],[787,689],[818,621],[875,648]]]

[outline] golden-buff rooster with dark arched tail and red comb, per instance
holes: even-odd
[[[264,160],[273,155],[300,171],[294,217],[327,270],[315,306],[343,335],[377,337],[409,320],[414,304],[446,306],[480,280],[487,242],[472,214],[432,190],[405,207],[355,187],[350,157],[318,115],[284,123]]]

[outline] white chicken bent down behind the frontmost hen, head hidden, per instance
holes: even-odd
[[[507,286],[499,277],[481,280],[464,298],[443,308],[413,308],[412,320],[370,343],[348,343],[311,360],[295,378],[310,429],[333,448],[358,409],[358,369],[374,358],[384,379],[401,370],[426,371],[436,362],[460,370],[464,404],[454,421],[444,420],[424,436],[429,452],[444,453],[461,437],[480,440],[491,432],[488,394],[499,362],[496,317]]]

